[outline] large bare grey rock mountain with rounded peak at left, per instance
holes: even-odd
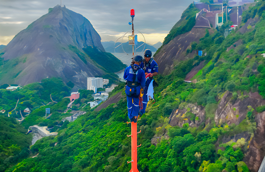
[[[101,44],[88,19],[59,5],[19,32],[0,50],[0,83],[25,85],[60,77],[86,88],[87,77],[126,67]]]

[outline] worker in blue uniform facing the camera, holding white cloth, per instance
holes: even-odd
[[[149,101],[149,98],[147,97],[147,90],[149,84],[152,81],[153,76],[158,74],[158,64],[156,61],[154,61],[153,58],[151,58],[152,51],[150,49],[145,50],[144,57],[145,59],[143,59],[143,62],[140,64],[140,67],[145,71],[145,75],[148,75],[149,73],[151,74],[149,78],[146,80],[146,85],[144,88],[144,95],[143,95],[143,108],[139,111],[140,117],[146,112],[147,102]]]

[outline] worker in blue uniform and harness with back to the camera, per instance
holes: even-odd
[[[123,76],[127,83],[125,93],[127,95],[128,117],[134,123],[137,123],[137,116],[140,110],[139,94],[146,83],[145,72],[139,67],[142,61],[142,56],[136,55],[133,58],[134,64],[126,67]]]

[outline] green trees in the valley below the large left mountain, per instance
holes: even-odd
[[[70,99],[66,96],[70,95],[69,91],[70,88],[63,84],[62,80],[56,78],[44,79],[41,83],[28,84],[24,88],[17,88],[15,91],[0,89],[0,109],[5,110],[5,113],[2,114],[4,116],[9,114],[11,117],[21,118],[23,115],[25,119],[22,125],[25,128],[39,125],[54,127],[53,131],[55,131],[58,129],[57,125],[63,124],[61,121],[63,118],[72,115],[71,110],[77,110],[80,104],[83,103],[84,106],[94,99],[92,90],[79,90],[80,98],[73,102],[72,109],[67,109]],[[29,115],[24,112],[26,108],[31,111]],[[46,108],[50,108],[50,118],[45,117]]]

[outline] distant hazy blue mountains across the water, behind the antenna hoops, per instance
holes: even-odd
[[[144,42],[138,42],[138,44],[136,45],[136,47],[141,46],[143,43]],[[114,48],[115,48],[114,46],[118,46],[119,44],[120,44],[120,42],[117,42],[115,44],[114,41],[102,42],[102,45],[103,45],[104,49],[106,50],[106,52],[109,52],[109,53],[114,53]],[[161,43],[161,45],[162,45],[162,43]],[[124,51],[123,51],[122,48],[124,49],[124,51],[126,53],[132,52],[132,49],[133,49],[132,48],[132,45],[129,45],[128,42],[125,42],[125,43],[122,43],[122,46],[120,45],[119,47],[117,47],[115,49],[115,53],[124,53]],[[140,48],[136,49],[136,52],[138,52],[138,53],[141,52],[143,50],[143,48],[144,48],[144,45],[142,45]],[[153,54],[157,50],[154,46],[149,45],[149,44],[145,44],[145,49],[150,49],[153,52]]]

